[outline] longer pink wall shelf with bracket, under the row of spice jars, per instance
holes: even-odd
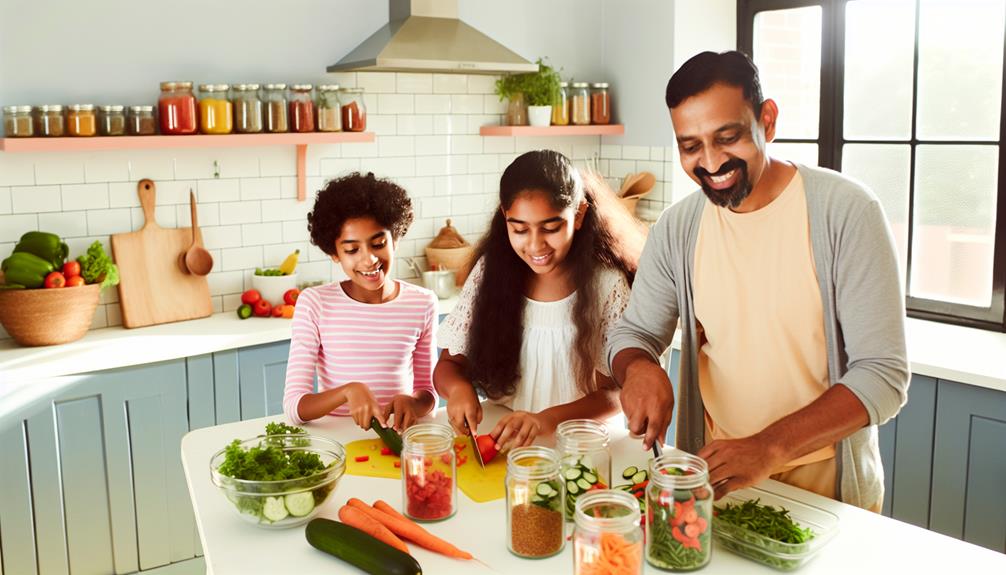
[[[305,165],[311,144],[373,142],[373,132],[308,132],[287,134],[220,134],[216,136],[111,136],[65,138],[0,138],[2,152],[90,152],[98,150],[156,150],[167,148],[297,147],[297,200],[307,197]]]

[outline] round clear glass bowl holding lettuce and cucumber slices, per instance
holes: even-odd
[[[326,468],[296,480],[236,480],[217,471],[226,456],[224,447],[209,459],[213,485],[226,496],[238,517],[247,523],[267,529],[284,529],[307,523],[318,515],[342,478],[346,470],[346,450],[337,441],[303,433],[260,435],[240,442],[243,449],[261,445],[275,445],[284,451],[317,453]]]

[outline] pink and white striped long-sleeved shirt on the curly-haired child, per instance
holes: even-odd
[[[305,290],[297,300],[287,363],[283,410],[303,423],[301,398],[359,381],[385,405],[399,393],[428,390],[433,384],[437,349],[434,326],[437,297],[433,292],[398,281],[398,297],[385,304],[362,304],[346,295],[339,282]],[[330,415],[349,415],[342,405]]]

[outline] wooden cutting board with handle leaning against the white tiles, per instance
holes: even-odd
[[[123,325],[142,328],[205,318],[213,313],[205,275],[179,266],[178,256],[192,243],[192,228],[157,224],[154,182],[137,184],[145,222],[139,231],[112,235],[112,254],[119,266],[119,305]]]

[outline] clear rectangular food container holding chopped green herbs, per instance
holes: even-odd
[[[746,528],[718,520],[712,522],[712,536],[724,549],[780,571],[794,571],[811,560],[838,533],[838,516],[819,507],[758,488],[744,488],[724,496],[714,510],[726,504],[739,505],[749,500],[775,508],[784,508],[800,527],[810,528],[814,537],[806,543],[783,543]]]

